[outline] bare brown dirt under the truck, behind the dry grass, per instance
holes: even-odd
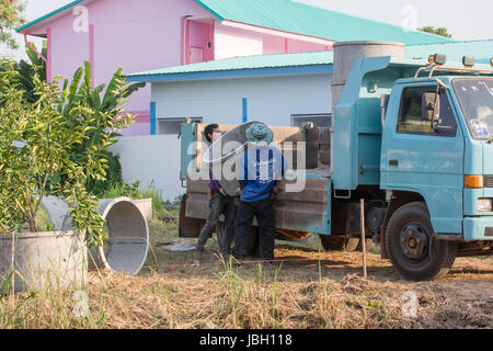
[[[147,264],[159,267],[157,272],[172,280],[206,279],[210,284],[215,284],[216,276],[225,271],[223,264],[217,262],[216,240],[209,240],[204,264],[199,268],[188,265],[192,252],[171,252],[164,248],[174,242],[194,245],[195,240],[172,238],[164,242],[154,242]],[[397,328],[493,328],[492,256],[458,258],[450,273],[444,279],[412,283],[402,280],[391,263],[381,260],[376,253],[378,249],[374,248],[370,250],[372,253],[368,253],[369,279],[365,281],[359,278],[363,275],[360,252],[322,252],[313,246],[313,240],[311,245],[278,241],[275,254],[276,260],[283,263],[277,262],[265,269],[266,279],[276,275],[275,279],[279,284],[287,284],[286,288],[289,288],[289,284],[310,286],[311,283],[321,280],[343,285],[352,281],[351,286],[359,286],[356,288],[357,294],[382,290],[388,296],[392,296],[391,298],[400,299],[402,306],[410,301],[409,298],[415,297],[416,314],[411,318],[404,318],[402,324],[398,322]],[[238,268],[237,272],[245,281],[255,281],[259,264],[244,264]],[[353,284],[355,282],[357,283]]]

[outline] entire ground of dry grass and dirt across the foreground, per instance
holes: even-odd
[[[153,241],[177,241],[175,224],[157,220]],[[206,263],[215,261],[216,247],[209,240]],[[442,281],[409,283],[374,253],[364,280],[357,252],[280,245],[277,258],[305,261],[193,269],[167,267],[191,263],[191,252],[152,249],[148,264],[160,269],[138,276],[90,272],[85,318],[73,315],[77,288],[48,288],[0,298],[0,328],[493,328],[492,258],[459,259]],[[402,314],[409,291],[419,299],[417,318]]]

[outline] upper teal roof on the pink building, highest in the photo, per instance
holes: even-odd
[[[335,42],[387,41],[436,44],[449,38],[406,31],[398,25],[367,20],[290,0],[195,0],[219,20],[297,33]]]

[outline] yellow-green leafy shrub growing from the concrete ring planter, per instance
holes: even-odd
[[[104,219],[87,184],[105,180],[107,147],[133,120],[122,110],[129,91],[121,70],[102,100],[89,63],[62,88],[59,77],[46,82],[35,73],[31,102],[14,64],[0,64],[0,233],[37,231],[39,204],[54,195],[70,204],[72,226],[89,244],[102,245]]]

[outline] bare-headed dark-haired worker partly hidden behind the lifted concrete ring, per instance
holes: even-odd
[[[221,134],[219,126],[217,124],[210,124],[204,129],[204,136],[209,144],[214,140],[220,138]],[[229,256],[231,253],[231,240],[234,231],[234,222],[237,218],[237,204],[233,196],[229,196],[221,184],[213,178],[213,172],[209,170],[209,215],[204,228],[200,230],[198,236],[197,246],[194,252],[194,265],[199,265],[202,263],[202,257],[204,253],[204,247],[208,238],[213,235],[219,223],[219,217],[221,214],[225,215],[225,230],[223,236],[220,238],[218,236],[218,241],[225,261],[229,261]]]

